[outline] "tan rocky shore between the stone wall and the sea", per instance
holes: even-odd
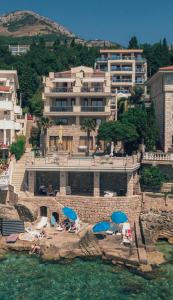
[[[91,226],[86,226],[79,234],[57,232],[53,228],[46,229],[46,237],[36,241],[41,248],[41,258],[46,261],[59,261],[76,257],[101,257],[113,264],[139,269],[143,272],[152,271],[152,267],[165,262],[162,253],[153,249],[147,252],[143,261],[139,258],[139,249],[121,244],[121,237],[106,236],[99,239],[91,233]],[[29,253],[33,242],[17,240],[16,243],[6,243],[6,238],[0,239],[0,257],[9,251],[26,251]]]

